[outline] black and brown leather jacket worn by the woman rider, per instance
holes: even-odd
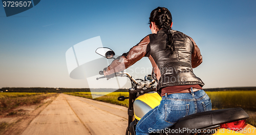
[[[172,30],[173,31],[173,30]],[[104,71],[104,75],[123,71],[140,60],[148,57],[153,66],[153,76],[158,82],[157,91],[173,85],[199,84],[202,80],[193,73],[202,63],[202,55],[195,41],[179,31],[173,31],[175,51],[170,55],[166,50],[166,30],[144,37],[136,46],[114,60]]]

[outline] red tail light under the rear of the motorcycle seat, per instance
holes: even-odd
[[[246,120],[239,120],[235,122],[224,123],[224,124],[221,124],[221,128],[238,131],[243,129],[246,126],[245,122]]]

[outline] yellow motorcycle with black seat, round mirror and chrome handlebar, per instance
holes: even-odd
[[[115,59],[115,53],[109,48],[98,48],[97,54]],[[103,75],[103,71],[99,72]],[[126,135],[136,134],[136,125],[138,121],[151,109],[160,104],[161,97],[156,92],[155,80],[152,75],[146,75],[144,80],[134,79],[129,73],[124,71],[115,73],[116,77],[128,77],[131,80],[132,87],[129,88],[129,97],[120,96],[119,101],[129,99],[128,126]],[[100,77],[96,78],[101,79]],[[189,115],[181,118],[172,127],[161,130],[149,129],[151,134],[183,134],[183,135],[251,135],[256,134],[256,128],[246,124],[248,114],[242,108],[227,108],[204,111],[201,113]]]

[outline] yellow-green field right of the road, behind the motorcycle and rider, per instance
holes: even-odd
[[[224,91],[224,92],[206,92],[212,102],[212,109],[241,107],[250,116],[247,123],[256,126],[256,91]],[[99,96],[103,93],[66,93],[73,96],[79,96],[92,99],[92,95]],[[128,92],[114,92],[105,96],[95,98],[94,100],[108,102],[112,104],[128,107],[128,100],[118,101],[119,96],[129,97]]]

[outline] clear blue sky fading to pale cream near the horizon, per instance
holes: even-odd
[[[0,7],[0,87],[87,87],[86,80],[69,77],[66,51],[100,36],[104,47],[121,55],[151,34],[148,17],[158,6],[170,10],[174,30],[198,44],[203,63],[194,72],[204,88],[256,86],[255,5],[255,1],[42,0],[10,17]],[[143,58],[126,71],[149,67]]]

